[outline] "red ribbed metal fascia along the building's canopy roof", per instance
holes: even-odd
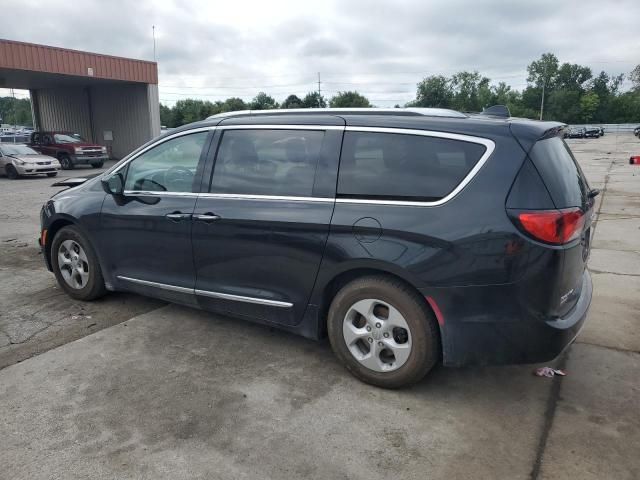
[[[146,60],[0,39],[0,68],[158,83],[158,64]]]

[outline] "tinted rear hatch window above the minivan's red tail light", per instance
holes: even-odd
[[[541,140],[533,146],[529,156],[547,186],[556,208],[586,205],[589,185],[563,139],[553,137]]]

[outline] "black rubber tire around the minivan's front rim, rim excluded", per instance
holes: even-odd
[[[58,251],[60,249],[60,245],[65,240],[73,240],[74,242],[78,243],[86,253],[88,260],[87,263],[89,264],[89,278],[83,288],[76,289],[68,285],[66,280],[62,276],[62,273],[60,272],[58,264]],[[51,266],[53,267],[53,273],[56,276],[56,280],[58,281],[60,287],[71,298],[75,298],[76,300],[89,301],[100,298],[107,293],[107,289],[104,286],[104,277],[102,276],[100,263],[98,262],[98,257],[96,256],[93,246],[75,226],[69,225],[67,227],[63,227],[56,233],[53,241],[51,242],[50,255]]]

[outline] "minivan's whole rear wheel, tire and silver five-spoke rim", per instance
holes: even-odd
[[[414,290],[386,276],[345,285],[331,302],[327,330],[347,370],[379,387],[418,382],[440,358],[433,313]]]

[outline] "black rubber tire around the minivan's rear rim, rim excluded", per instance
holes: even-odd
[[[379,299],[396,308],[409,326],[411,352],[406,362],[389,372],[362,365],[349,350],[343,323],[351,306],[364,299]],[[420,381],[440,359],[440,334],[433,312],[415,290],[387,276],[362,277],[336,294],[327,318],[329,341],[334,353],[354,376],[383,388],[401,388]]]

